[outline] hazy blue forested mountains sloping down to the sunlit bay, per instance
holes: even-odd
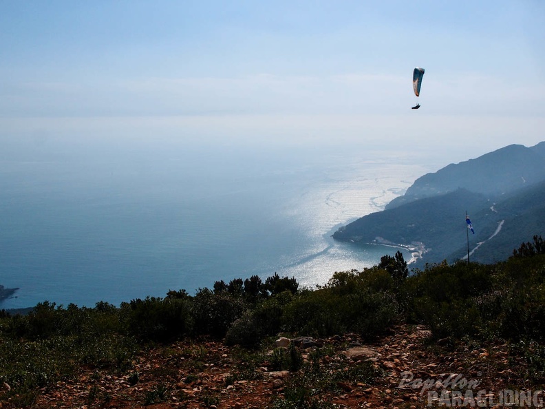
[[[509,145],[426,174],[384,211],[341,227],[333,238],[409,247],[417,267],[454,262],[467,257],[466,211],[475,227],[472,261],[504,260],[533,235],[545,235],[545,142]]]

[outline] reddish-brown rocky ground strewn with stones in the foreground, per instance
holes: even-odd
[[[452,406],[493,407],[510,398],[506,390],[517,391],[511,397],[515,403],[526,399],[520,394],[526,390],[531,399],[545,400],[528,384],[523,357],[506,344],[452,347],[446,341],[429,342],[423,326],[399,326],[372,344],[350,334],[279,339],[277,345],[296,342],[299,356],[308,362],[297,373],[274,368],[275,346],[257,353],[220,342],[176,342],[142,351],[127,368],[82,368],[74,381],[42,390],[34,407],[295,408],[280,401],[293,399],[293,379],[310,371],[312,359],[323,377],[363,361],[372,362],[378,375],[368,382],[315,381],[307,395],[315,408],[416,409],[436,407],[441,399]],[[3,406],[10,407],[9,401]]]

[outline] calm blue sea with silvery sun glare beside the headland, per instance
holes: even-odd
[[[407,152],[144,144],[5,156],[0,284],[19,291],[0,307],[119,304],[275,272],[324,284],[395,253],[330,235],[426,173],[411,162]]]

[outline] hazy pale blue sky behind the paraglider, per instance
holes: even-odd
[[[1,0],[0,144],[43,136],[535,145],[545,1]]]

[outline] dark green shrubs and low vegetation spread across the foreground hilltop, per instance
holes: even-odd
[[[462,340],[501,339],[526,359],[528,379],[539,383],[545,379],[544,316],[545,245],[540,236],[497,264],[443,262],[409,274],[397,253],[385,255],[370,269],[334,273],[315,289],[277,274],[265,281],[254,275],[215,282],[213,289],[199,289],[195,295],[169,291],[163,298],[120,306],[43,302],[27,315],[0,311],[0,401],[32,406],[40,390],[74,377],[82,367],[109,368],[136,384],[136,353],[180,339],[205,337],[238,345],[241,354],[248,354],[244,361],[249,365],[264,359],[259,351],[279,333],[357,333],[372,341],[396,324],[425,324],[434,340],[453,346]],[[207,351],[195,346],[184,354],[196,367]],[[317,384],[333,388],[345,379],[367,382],[376,376],[366,364],[346,368],[342,379],[321,374],[316,365],[320,350],[312,354],[304,364],[297,348],[275,350],[268,357],[278,370],[297,374],[286,386],[286,399],[275,401],[274,408],[327,407],[312,395]],[[255,366],[239,368],[237,379],[257,376]],[[149,392],[146,401],[161,401],[164,388]],[[210,404],[217,400],[209,399]]]

